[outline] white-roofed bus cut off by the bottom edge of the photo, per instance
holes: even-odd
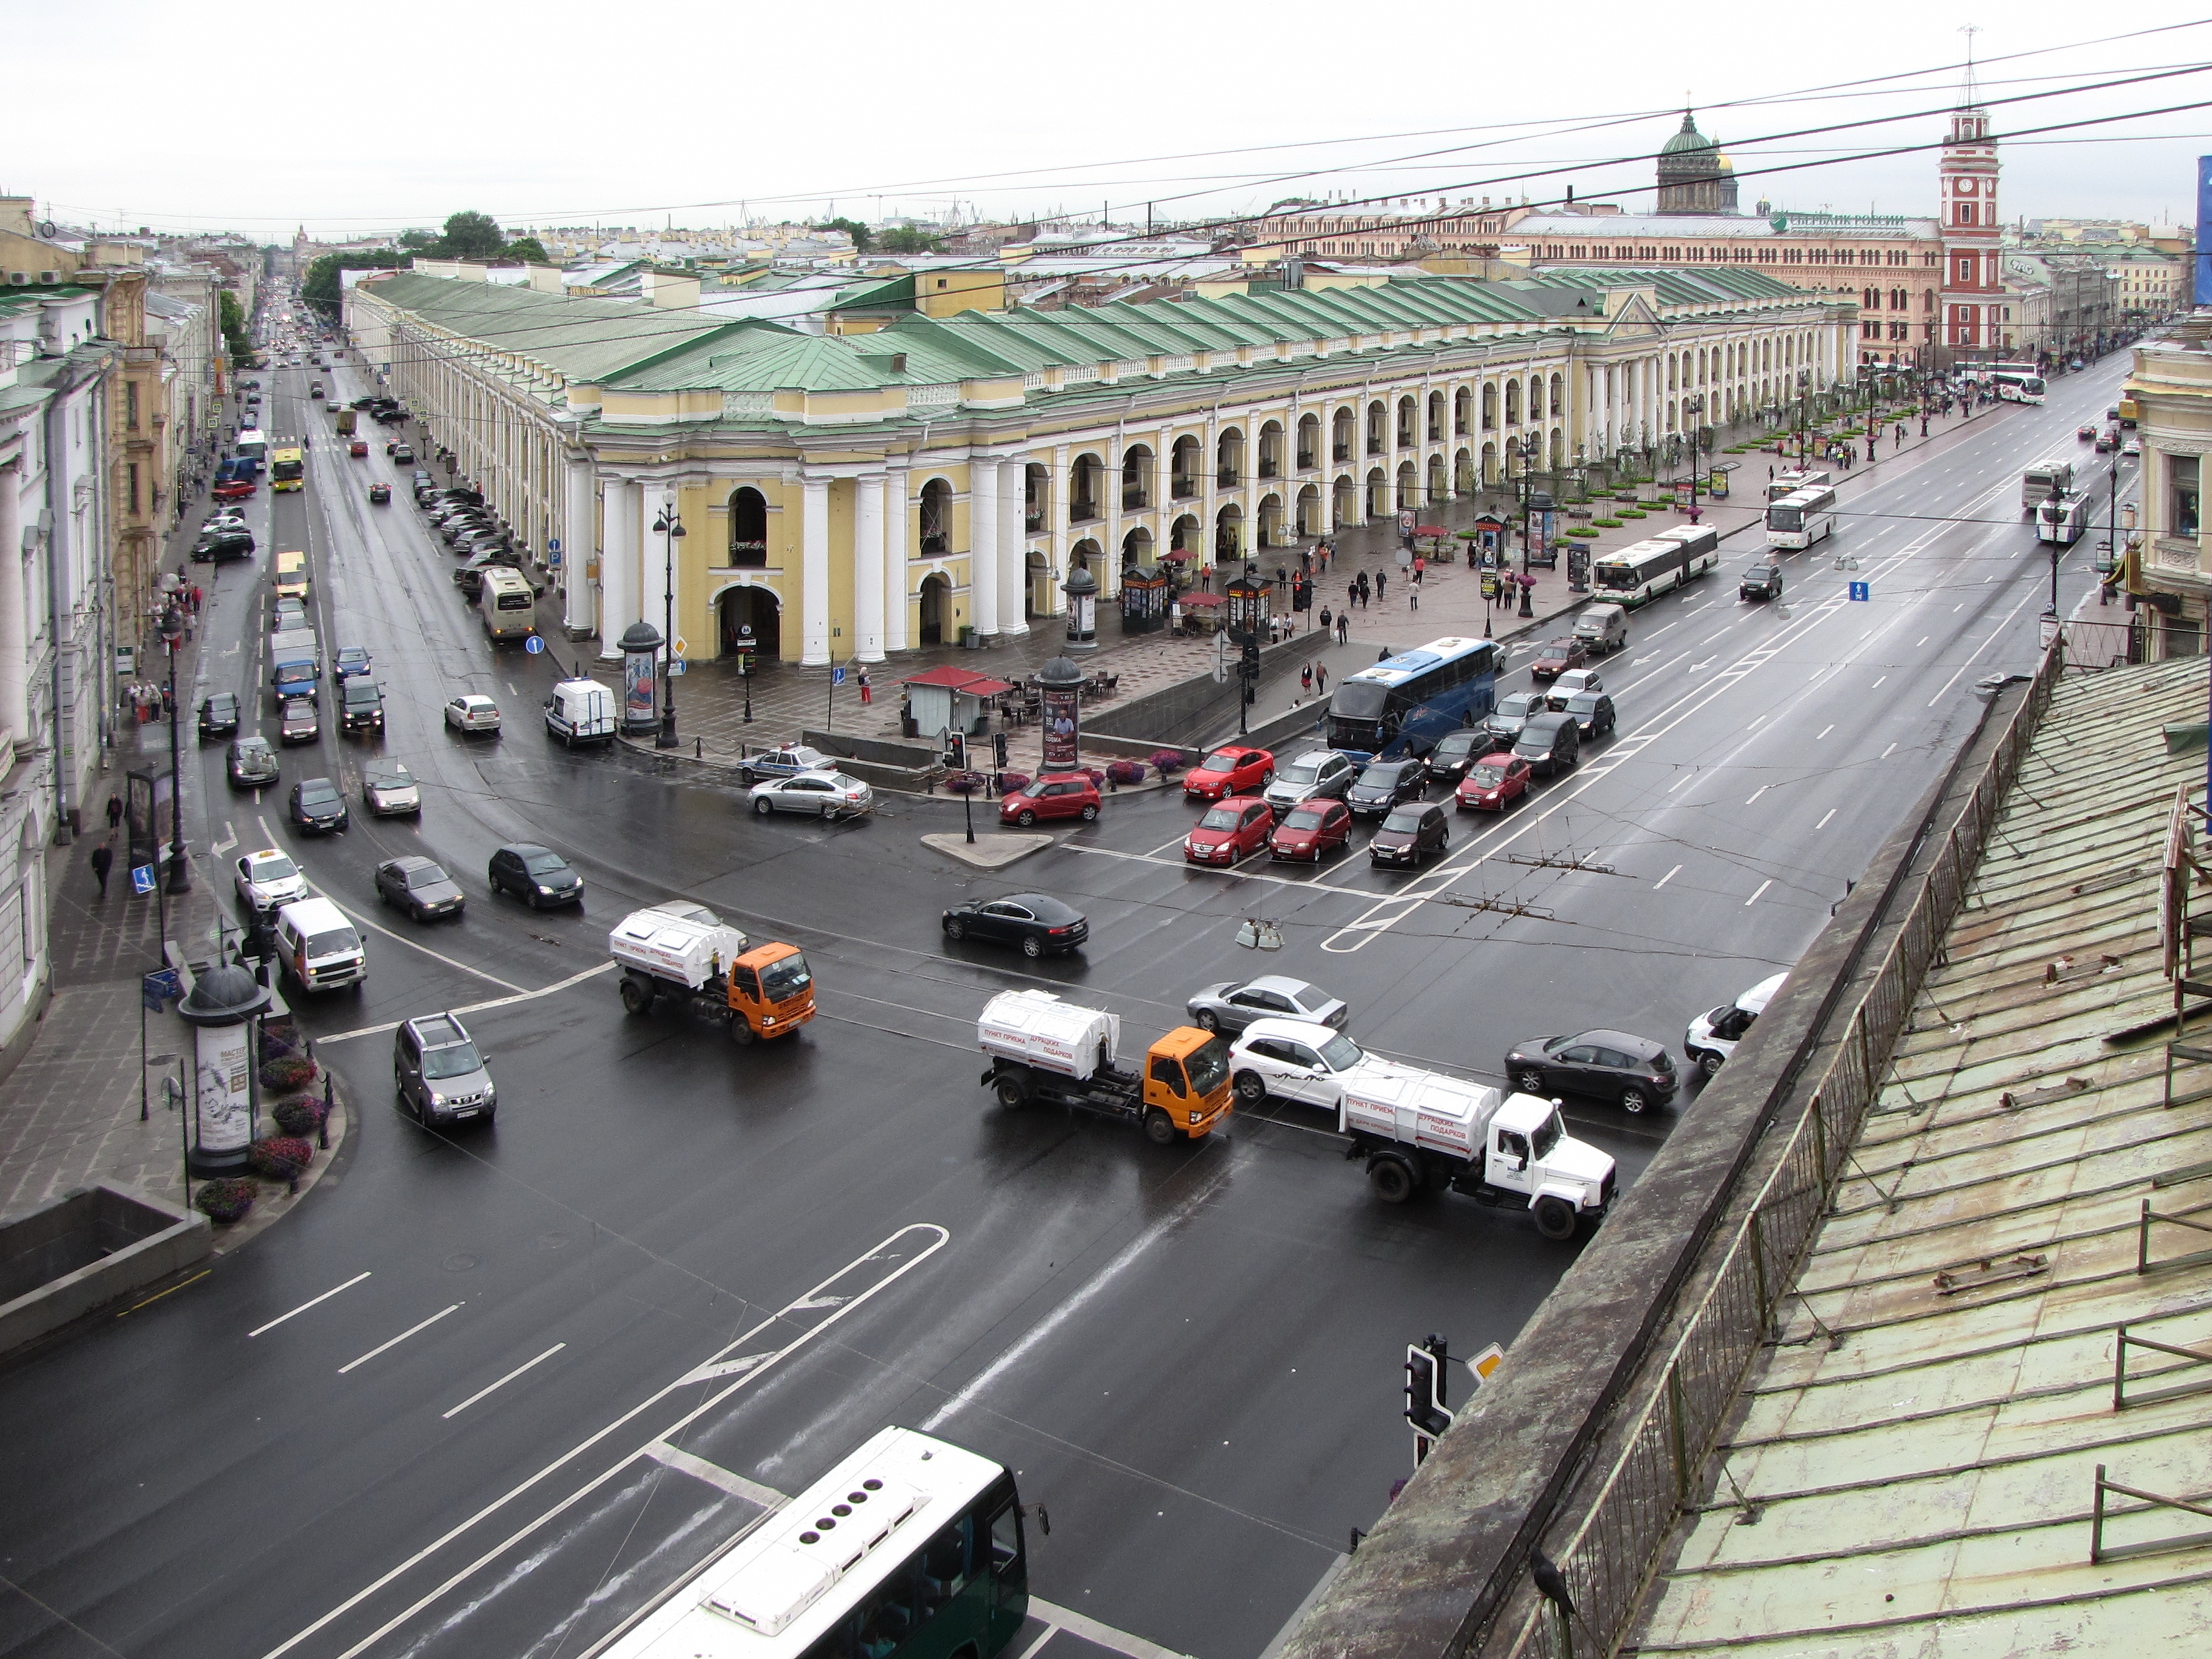
[[[584,1659],[993,1659],[1026,1615],[1013,1475],[885,1429]]]

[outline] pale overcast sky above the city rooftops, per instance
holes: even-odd
[[[1942,137],[1971,22],[2008,219],[2188,219],[2212,153],[2212,7],[2161,0],[0,7],[0,188],[73,223],[270,241],[456,208],[657,228],[1110,204],[1144,223],[1148,201],[1192,219],[1332,190],[1544,201],[1568,184],[1639,208],[1686,100],[1745,208],[1924,215],[1933,153],[1854,157]],[[2141,115],[2185,104],[2203,108]],[[2112,115],[2132,119],[2026,133]],[[1851,122],[1878,124],[1794,135]]]

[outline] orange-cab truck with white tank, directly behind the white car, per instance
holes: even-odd
[[[1230,1048],[1212,1031],[1177,1026],[1121,1071],[1121,1018],[1062,1002],[1051,991],[1002,991],[975,1020],[975,1042],[991,1055],[984,1088],[1000,1106],[1033,1099],[1133,1119],[1146,1139],[1168,1146],[1199,1139],[1228,1117]]]

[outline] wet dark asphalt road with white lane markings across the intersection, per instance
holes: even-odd
[[[1066,987],[1141,1046],[1183,993],[1263,967],[1347,998],[1360,1042],[1491,1082],[1511,1042],[1586,1024],[1679,1051],[1692,1013],[1827,920],[1971,728],[1973,679],[2031,666],[2048,560],[2020,467],[2075,453],[2121,369],[1851,476],[1836,546],[1785,560],[1785,608],[1736,602],[1761,549],[1723,544],[1721,573],[1637,613],[1604,666],[1619,737],[1502,821],[1455,821],[1416,878],[1358,847],[1321,872],[1190,872],[1175,794],[1115,799],[978,876],[918,845],[958,827],[956,803],[757,823],[646,759],[568,754],[538,721],[553,664],[487,644],[407,469],[347,460],[303,414],[312,372],[265,372],[268,429],[316,438],[310,489],[257,498],[261,553],[212,584],[201,690],[265,677],[263,573],[307,546],[323,639],[374,653],[389,730],[283,757],[285,785],[356,799],[347,834],[310,841],[283,790],[232,794],[221,748],[199,750],[195,849],[228,889],[210,843],[290,847],[374,929],[367,987],[301,1009],[358,1128],[312,1201],[212,1274],[0,1369],[0,1420],[38,1425],[9,1436],[0,1652],[577,1655],[757,1513],[639,1449],[796,1491],[907,1422],[1006,1460],[1051,1509],[1040,1595],[1179,1652],[1259,1655],[1409,1469],[1402,1345],[1511,1340],[1575,1245],[1458,1197],[1380,1206],[1290,1106],[1168,1150],[1002,1113],[978,1086],[980,1004]],[[392,507],[367,504],[372,478]],[[462,690],[502,703],[500,739],[440,726]],[[358,807],[378,752],[422,779],[420,825]],[[571,856],[582,914],[487,894],[511,838]],[[462,920],[376,907],[369,872],[400,852],[462,880]],[[1084,905],[1091,947],[1029,967],[938,936],[942,905],[1015,887]],[[823,1015],[752,1048],[626,1018],[606,927],[675,894],[801,942]],[[1285,951],[1239,951],[1243,916],[1276,920]],[[476,1004],[500,1121],[422,1133],[392,1110],[389,1022]],[[1630,1181],[1681,1110],[1692,1093],[1644,1119],[1568,1104]]]

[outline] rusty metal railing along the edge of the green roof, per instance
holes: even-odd
[[[1641,1405],[1624,1402],[1635,1416],[1628,1418],[1619,1453],[1604,1471],[1582,1522],[1564,1544],[1551,1548],[1575,1601],[1573,1628],[1555,1604],[1540,1597],[1504,1641],[1484,1644],[1478,1637],[1471,1652],[1573,1659],[1577,1648],[1584,1655],[1613,1652],[1626,1635],[1668,1546],[1674,1517],[1697,1500],[1705,1458],[1752,1360],[1770,1340],[1774,1312],[1845,1179],[1849,1148],[1880,1093],[1913,995],[1964,902],[2004,794],[2051,706],[2062,657],[2064,644],[2044,653],[2026,697],[1913,891],[1840,1040],[1805,1079],[1812,1086],[1805,1110],[1747,1214],[1719,1245],[1719,1267],[1699,1303],[1688,1310],[1683,1334],[1668,1354],[1657,1387]]]

